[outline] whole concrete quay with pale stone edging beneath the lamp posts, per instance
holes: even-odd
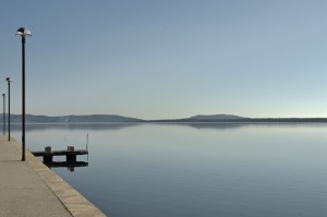
[[[21,144],[0,135],[0,216],[106,216]]]

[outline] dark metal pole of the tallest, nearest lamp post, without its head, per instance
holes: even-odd
[[[22,161],[25,161],[25,36],[22,37]]]

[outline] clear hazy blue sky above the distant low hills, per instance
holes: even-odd
[[[326,0],[1,0],[13,113],[21,26],[27,113],[327,117]]]

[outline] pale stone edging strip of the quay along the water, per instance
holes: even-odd
[[[22,153],[21,144],[14,142],[16,148]],[[104,217],[105,215],[94,204],[87,201],[82,194],[61,179],[57,173],[44,165],[28,149],[25,150],[26,162],[36,171],[41,180],[55,193],[63,206],[73,217]]]

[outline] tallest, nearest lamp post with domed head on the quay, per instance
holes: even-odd
[[[15,35],[22,37],[22,161],[25,161],[25,38],[32,34],[27,28],[20,27]]]

